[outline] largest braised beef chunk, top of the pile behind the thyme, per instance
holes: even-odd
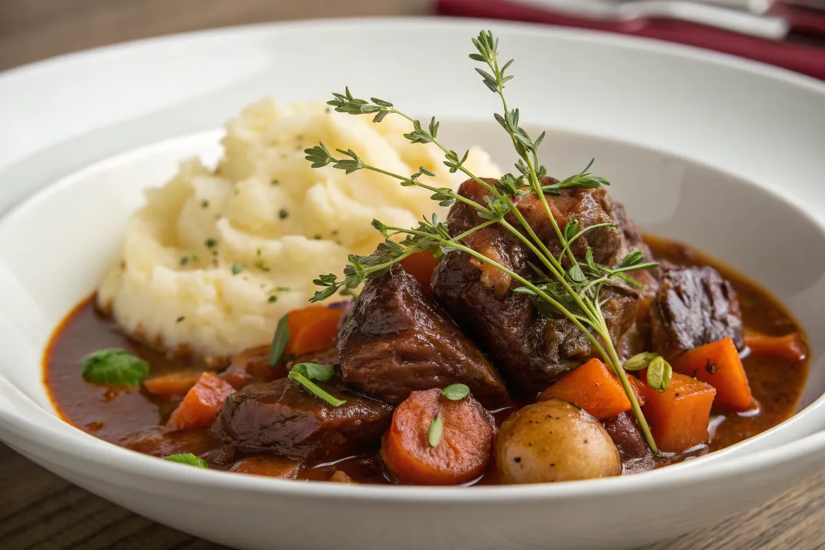
[[[487,191],[474,181],[465,181],[459,193],[484,204]],[[624,210],[610,200],[602,189],[563,190],[559,196],[547,197],[560,228],[576,219],[579,229],[596,223],[615,222],[619,229],[596,228],[575,243],[573,252],[582,260],[586,245],[592,247],[596,261],[615,265],[629,251],[625,234],[634,234],[641,242],[638,229],[627,224]],[[518,209],[555,255],[561,249],[555,231],[535,195],[524,195]],[[616,214],[620,211],[621,214]],[[450,234],[455,236],[474,228],[483,220],[476,211],[457,202],[447,219]],[[516,219],[508,218],[514,227]],[[464,244],[483,256],[497,261],[507,269],[527,279],[535,276],[528,262],[537,263],[529,248],[501,225],[483,228],[464,238]],[[645,248],[643,251],[648,253]],[[450,252],[433,275],[432,287],[436,299],[458,322],[468,336],[488,352],[493,364],[527,393],[535,394],[547,388],[561,374],[575,369],[594,355],[590,341],[566,318],[548,319],[538,313],[530,299],[508,290],[519,284],[510,275],[464,252]],[[641,296],[634,289],[606,287],[601,299],[610,335],[618,340],[636,321]]]

